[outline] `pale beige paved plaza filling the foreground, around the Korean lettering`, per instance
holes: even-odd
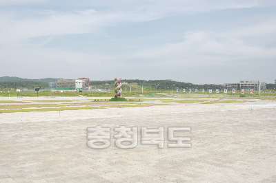
[[[0,182],[276,182],[276,102],[0,114]],[[138,146],[91,149],[87,127],[139,127]],[[192,148],[141,144],[191,127]]]

